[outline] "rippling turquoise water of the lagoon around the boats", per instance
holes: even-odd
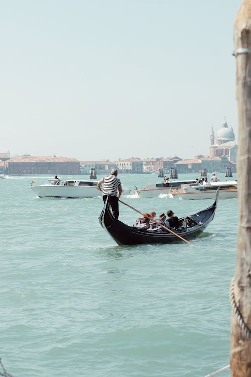
[[[119,177],[132,190],[161,181],[156,174]],[[193,246],[117,246],[99,225],[101,198],[37,198],[30,183],[46,179],[0,179],[0,357],[7,372],[203,377],[228,365],[237,199],[219,200]],[[141,212],[173,209],[177,216],[212,203],[122,200]],[[137,217],[120,204],[121,221],[131,225]]]

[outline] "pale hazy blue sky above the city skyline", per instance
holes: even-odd
[[[208,154],[238,134],[240,0],[0,0],[0,153]]]

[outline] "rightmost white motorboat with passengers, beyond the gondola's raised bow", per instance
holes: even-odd
[[[219,198],[237,198],[236,180],[225,182],[208,182],[203,184],[182,184],[180,187],[171,187],[170,198],[176,199],[213,199],[219,187]]]

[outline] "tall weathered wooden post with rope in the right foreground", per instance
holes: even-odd
[[[238,106],[238,234],[232,304],[231,377],[251,377],[251,0],[244,0],[234,21]]]

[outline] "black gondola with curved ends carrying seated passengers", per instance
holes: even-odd
[[[179,218],[180,228],[175,232],[186,240],[194,239],[201,234],[214,218],[218,195],[219,192],[217,191],[215,201],[210,207],[193,215]],[[184,242],[168,231],[150,232],[148,230],[140,230],[115,219],[110,209],[109,196],[100,214],[99,222],[118,245]],[[185,223],[186,226],[184,226]]]

